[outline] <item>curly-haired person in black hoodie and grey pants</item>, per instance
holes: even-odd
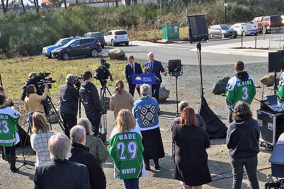
[[[227,147],[233,173],[233,189],[240,189],[244,168],[251,189],[259,189],[257,180],[257,154],[260,128],[252,118],[249,105],[239,101],[232,112],[233,122],[227,131]]]

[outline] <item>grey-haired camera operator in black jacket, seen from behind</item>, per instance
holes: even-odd
[[[76,77],[68,74],[66,84],[60,87],[60,114],[63,120],[64,133],[70,138],[70,129],[77,125],[79,90],[74,87]]]

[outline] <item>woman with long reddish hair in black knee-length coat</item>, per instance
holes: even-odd
[[[173,142],[176,145],[173,179],[179,180],[184,189],[201,189],[210,183],[207,165],[210,147],[207,132],[197,127],[197,118],[191,107],[185,107],[180,117],[180,125],[173,127]]]

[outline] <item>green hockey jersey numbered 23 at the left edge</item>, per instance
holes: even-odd
[[[11,107],[0,107],[0,145],[13,146],[20,141],[17,128],[20,115]]]

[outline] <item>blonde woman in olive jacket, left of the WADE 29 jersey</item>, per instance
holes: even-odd
[[[102,166],[102,163],[106,162],[108,157],[108,152],[106,150],[105,145],[102,143],[101,139],[99,139],[97,136],[94,136],[92,131],[92,124],[88,120],[88,118],[80,118],[77,121],[77,125],[81,125],[86,129],[86,144],[85,146],[90,148],[90,153],[93,154],[99,161]]]

